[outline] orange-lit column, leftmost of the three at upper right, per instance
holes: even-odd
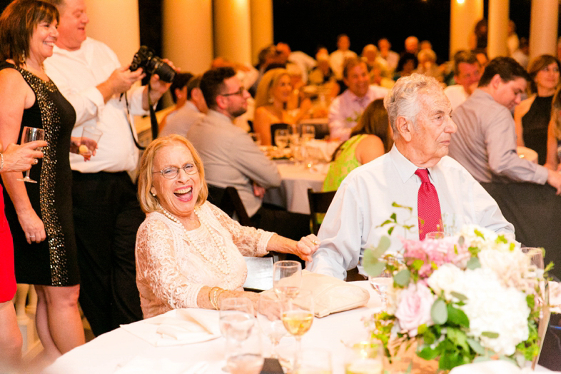
[[[450,59],[468,40],[477,21],[483,18],[483,0],[450,0]]]

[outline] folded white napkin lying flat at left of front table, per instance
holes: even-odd
[[[201,343],[221,336],[218,311],[198,308],[170,310],[121,328],[156,347]]]

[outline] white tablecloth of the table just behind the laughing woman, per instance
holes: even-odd
[[[328,164],[320,164],[308,169],[294,163],[278,163],[282,183],[278,188],[269,188],[263,201],[286,208],[293,213],[310,214],[308,188],[321,191]]]

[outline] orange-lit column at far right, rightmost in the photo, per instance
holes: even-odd
[[[558,0],[532,0],[530,61],[542,54],[557,56]]]

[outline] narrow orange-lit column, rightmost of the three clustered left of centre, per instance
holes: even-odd
[[[261,49],[273,44],[273,0],[251,0],[251,61],[257,64]]]

